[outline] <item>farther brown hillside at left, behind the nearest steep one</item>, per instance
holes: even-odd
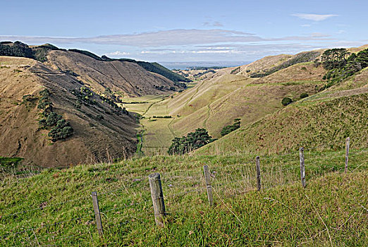
[[[121,96],[160,95],[178,90],[173,81],[122,61],[99,61],[79,52],[50,51],[47,64],[74,75],[97,93],[106,88]]]

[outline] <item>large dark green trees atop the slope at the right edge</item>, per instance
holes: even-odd
[[[350,54],[347,49],[328,49],[322,54],[321,62],[327,73],[324,80],[329,80],[324,88],[329,88],[341,80],[352,76],[368,66],[368,49]]]

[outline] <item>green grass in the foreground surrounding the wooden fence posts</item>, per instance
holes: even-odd
[[[261,157],[264,190],[254,191],[254,156],[147,157],[117,164],[47,169],[0,181],[0,246],[364,246],[368,241],[368,152],[298,152]],[[214,208],[202,166],[211,169]],[[147,175],[159,172],[168,210],[157,228]],[[91,191],[99,195],[97,234]],[[70,220],[71,219],[71,220]],[[56,224],[55,224],[56,223]]]

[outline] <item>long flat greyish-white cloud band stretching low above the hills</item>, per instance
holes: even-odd
[[[252,33],[223,29],[174,29],[157,32],[142,32],[128,35],[104,35],[97,37],[33,37],[33,36],[0,36],[0,40],[20,40],[28,44],[111,44],[127,47],[168,47],[190,46],[216,43],[249,43],[285,40],[321,40],[321,36],[289,36],[263,38]]]

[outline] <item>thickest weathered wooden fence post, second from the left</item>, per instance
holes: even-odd
[[[157,226],[164,227],[164,216],[166,215],[164,193],[162,192],[161,177],[159,173],[148,176],[151,198],[154,206],[154,221]]]

